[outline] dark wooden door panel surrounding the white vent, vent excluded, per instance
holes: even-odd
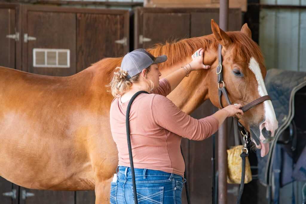
[[[70,76],[76,73],[76,14],[28,11],[24,14],[29,36],[36,40],[24,43],[27,47],[27,67],[24,70],[35,74]],[[33,67],[33,48],[56,48],[70,50],[69,68]],[[24,53],[25,54],[25,53]]]

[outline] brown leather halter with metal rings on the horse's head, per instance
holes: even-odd
[[[230,102],[230,98],[228,96],[228,93],[226,91],[226,88],[225,88],[225,83],[223,81],[223,70],[222,70],[222,54],[221,54],[221,51],[222,51],[222,45],[219,44],[218,46],[218,66],[217,66],[217,76],[218,76],[218,95],[219,95],[219,103],[220,103],[220,106],[221,108],[223,108],[222,106],[222,100],[221,100],[221,97],[222,95],[224,95],[225,99],[226,99],[226,102],[227,104],[231,105],[232,103]],[[220,84],[222,83],[222,87],[220,88]],[[250,110],[251,108],[255,107],[256,105],[262,103],[263,101],[266,101],[266,100],[271,100],[271,97],[269,95],[266,95],[266,96],[262,96],[254,101],[252,101],[251,103],[245,105],[244,107],[240,108],[243,112],[245,111],[248,111]],[[235,116],[235,118],[237,118],[237,120],[241,119],[242,117],[238,117],[237,115]],[[238,122],[238,129],[240,131],[242,131],[244,129],[245,131],[245,128]],[[245,131],[247,132],[247,131]]]

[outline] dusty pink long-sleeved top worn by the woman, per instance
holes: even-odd
[[[154,93],[141,93],[130,110],[130,136],[134,168],[147,168],[184,177],[181,139],[203,140],[214,134],[219,122],[213,116],[194,119],[166,96],[170,83],[163,78]],[[130,167],[125,116],[129,101],[114,98],[110,106],[110,128],[117,145],[119,166]]]

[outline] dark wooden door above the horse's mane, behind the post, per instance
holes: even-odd
[[[212,33],[211,19],[219,22],[219,9],[138,7],[135,9],[134,49],[209,35]],[[230,9],[229,19],[230,31],[241,29],[240,9]]]

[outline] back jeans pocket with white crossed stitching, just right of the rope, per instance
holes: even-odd
[[[134,200],[134,191],[132,188],[132,197]],[[136,187],[137,200],[139,204],[162,204],[164,187]]]

